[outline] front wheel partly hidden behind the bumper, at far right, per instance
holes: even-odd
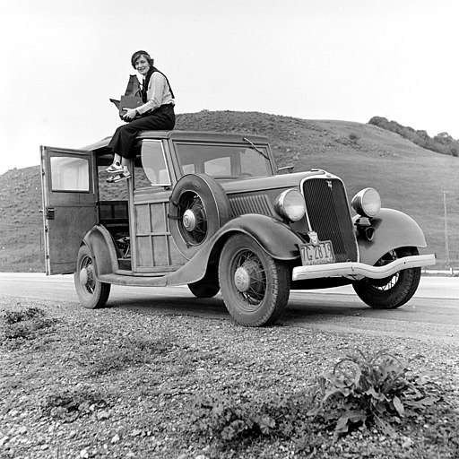
[[[391,250],[377,261],[377,266],[393,262],[403,256],[419,255],[416,247],[399,247]],[[403,306],[418,289],[420,268],[403,269],[385,279],[362,279],[352,284],[355,292],[365,303],[375,309],[395,309]]]

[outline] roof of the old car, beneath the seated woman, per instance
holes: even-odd
[[[252,143],[268,143],[264,135],[219,133],[210,131],[142,131],[137,139],[169,139],[186,142],[218,142],[218,143],[242,143],[247,138]],[[97,151],[105,149],[111,140],[111,136],[82,147],[82,150]]]

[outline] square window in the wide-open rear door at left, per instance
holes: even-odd
[[[50,166],[53,191],[90,192],[89,160],[52,156]]]

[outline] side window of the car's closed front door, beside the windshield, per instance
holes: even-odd
[[[166,157],[160,141],[145,140],[141,152],[143,171],[148,183],[139,184],[136,179],[135,187],[139,186],[170,186],[170,174]],[[142,180],[144,182],[144,180]]]

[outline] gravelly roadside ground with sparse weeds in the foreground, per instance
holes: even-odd
[[[459,343],[251,329],[1,296],[0,304],[1,459],[459,457]],[[8,314],[30,308],[37,316],[7,323]],[[333,441],[324,429],[223,447],[194,428],[200,397],[230,394],[255,405],[276,394],[306,397],[317,376],[356,348],[388,349],[403,359],[422,354],[412,371],[437,384],[437,406],[403,422],[394,436],[362,428]]]

